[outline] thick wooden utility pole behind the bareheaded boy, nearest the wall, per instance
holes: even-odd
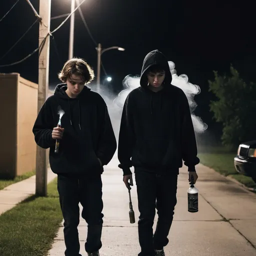
[[[38,58],[38,97],[37,112],[42,107],[46,95],[48,94],[48,76],[49,76],[49,35],[50,32],[50,3],[51,0],[40,0],[39,16],[41,21],[39,24],[39,49]],[[35,194],[39,196],[47,195],[47,162],[46,150],[36,147],[36,173],[35,173]]]

